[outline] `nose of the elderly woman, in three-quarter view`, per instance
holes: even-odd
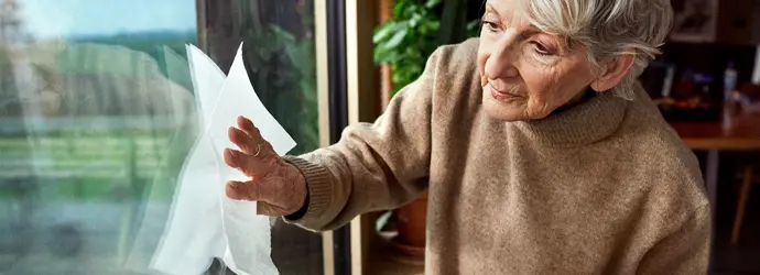
[[[518,58],[515,48],[517,35],[513,30],[504,31],[491,47],[491,54],[486,61],[486,75],[490,79],[512,78],[519,75],[514,62]]]

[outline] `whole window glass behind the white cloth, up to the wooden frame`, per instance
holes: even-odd
[[[0,274],[155,274],[199,132],[185,44],[228,68],[246,41],[291,153],[317,146],[313,3],[199,3],[0,0]],[[322,273],[318,234],[278,221],[272,245],[282,274]]]

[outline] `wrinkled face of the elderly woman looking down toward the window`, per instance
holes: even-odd
[[[496,119],[542,119],[583,96],[595,79],[585,48],[542,33],[518,0],[489,0],[478,51],[484,108]]]

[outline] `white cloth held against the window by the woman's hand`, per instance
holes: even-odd
[[[238,116],[251,119],[278,154],[295,146],[257,97],[241,53],[242,44],[225,78],[200,50],[187,46],[202,133],[185,161],[166,230],[151,262],[158,272],[200,274],[218,257],[240,275],[278,274],[269,218],[256,215],[256,202],[225,196],[228,180],[248,180],[222,157],[225,147],[235,148],[227,132]]]

